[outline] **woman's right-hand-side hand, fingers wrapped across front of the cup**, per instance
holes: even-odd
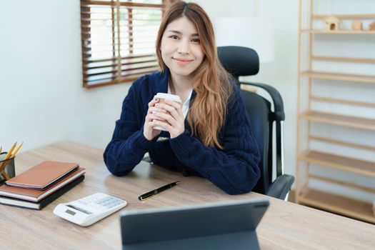
[[[171,139],[179,136],[185,131],[185,119],[182,114],[181,104],[176,101],[165,100],[164,103],[157,103],[155,106],[164,109],[166,113],[154,111],[154,116],[158,116],[162,121],[154,120],[155,126],[161,126],[164,130],[169,131]]]

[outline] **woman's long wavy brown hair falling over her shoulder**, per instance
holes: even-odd
[[[216,51],[214,28],[206,11],[198,4],[177,1],[169,5],[161,20],[156,39],[156,55],[163,72],[167,66],[161,57],[161,39],[166,26],[185,16],[198,31],[204,51],[204,59],[193,74],[193,89],[196,97],[189,109],[187,121],[192,135],[196,135],[205,146],[223,149],[218,134],[224,124],[226,105],[233,91],[228,72],[221,66]]]

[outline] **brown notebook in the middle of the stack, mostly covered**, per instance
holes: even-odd
[[[41,201],[41,199],[46,198],[46,196],[49,196],[50,194],[54,193],[55,191],[58,191],[66,184],[69,184],[71,181],[74,181],[75,179],[79,178],[79,176],[84,175],[84,173],[84,168],[76,169],[68,175],[64,176],[62,179],[57,181],[54,185],[50,186],[46,190],[24,189],[17,186],[3,185],[0,186],[0,196],[2,195],[13,197],[16,199],[23,199],[26,201],[38,202]]]

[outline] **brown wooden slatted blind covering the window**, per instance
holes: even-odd
[[[155,41],[163,0],[81,0],[85,88],[134,81],[159,70]]]

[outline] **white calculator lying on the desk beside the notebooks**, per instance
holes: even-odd
[[[126,206],[126,201],[96,193],[55,207],[54,214],[80,226],[90,226]]]

